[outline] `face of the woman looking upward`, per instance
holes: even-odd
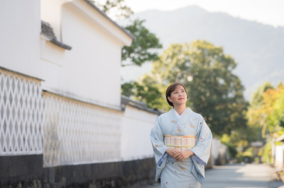
[[[170,93],[170,97],[168,97],[170,102],[173,102],[174,106],[184,105],[187,101],[187,93],[185,92],[185,88],[182,86],[177,86],[172,93]]]

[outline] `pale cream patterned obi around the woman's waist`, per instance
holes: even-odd
[[[188,151],[196,145],[197,138],[193,135],[170,136],[165,135],[165,146],[177,149],[178,151]]]

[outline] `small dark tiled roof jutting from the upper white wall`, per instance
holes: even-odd
[[[62,47],[63,49],[72,49],[69,45],[65,45],[63,42],[60,42],[57,40],[53,33],[53,28],[50,27],[50,24],[41,20],[41,33],[48,37],[50,39],[50,42],[52,42],[54,45],[57,45],[58,47]]]

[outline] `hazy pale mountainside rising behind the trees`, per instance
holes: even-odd
[[[198,6],[175,11],[143,11],[133,18],[146,20],[146,27],[160,38],[164,49],[173,43],[197,39],[224,47],[224,52],[239,63],[235,73],[246,88],[248,100],[264,81],[276,84],[284,80],[283,27],[273,28],[226,13],[212,13]],[[124,25],[126,20],[119,23]],[[149,65],[143,68],[149,69]]]

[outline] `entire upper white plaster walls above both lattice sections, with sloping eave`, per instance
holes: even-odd
[[[41,18],[72,50],[40,35]],[[131,37],[89,4],[0,1],[0,24],[0,66],[43,79],[45,90],[120,109],[121,47]]]

